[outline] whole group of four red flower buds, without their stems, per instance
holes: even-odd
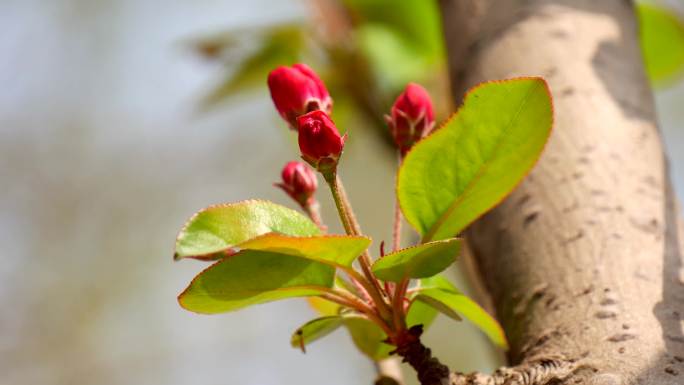
[[[278,67],[268,76],[271,98],[280,116],[297,130],[302,159],[326,178],[333,176],[346,135],[341,136],[330,118],[332,98],[323,81],[305,64]],[[401,155],[432,131],[435,119],[430,95],[409,83],[386,116]],[[305,205],[316,190],[313,171],[299,162],[288,163],[277,184],[294,200]]]

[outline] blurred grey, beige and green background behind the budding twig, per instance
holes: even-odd
[[[668,11],[640,12],[655,31],[644,52],[684,198],[684,1],[655,4]],[[344,330],[306,355],[289,346],[315,315],[303,300],[181,309],[205,264],[173,263],[174,239],[213,203],[293,207],[272,183],[296,138],[265,76],[304,61],[350,131],[341,173],[359,219],[389,240],[396,160],[380,118],[411,80],[446,117],[443,58],[425,0],[0,2],[0,384],[370,384]],[[465,322],[439,317],[426,345],[454,370],[501,363]]]

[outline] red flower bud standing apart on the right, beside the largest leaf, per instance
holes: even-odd
[[[399,151],[402,155],[406,154],[435,125],[430,95],[420,85],[409,83],[394,102],[391,116],[385,118]]]

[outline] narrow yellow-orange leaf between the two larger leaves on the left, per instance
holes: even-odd
[[[240,243],[238,247],[294,255],[332,266],[351,267],[354,260],[370,246],[370,243],[369,238],[361,236],[290,237],[269,233]]]

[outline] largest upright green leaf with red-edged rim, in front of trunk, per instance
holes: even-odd
[[[399,203],[423,242],[454,236],[506,197],[536,163],[552,121],[541,78],[471,89],[458,112],[417,143],[399,170]]]

